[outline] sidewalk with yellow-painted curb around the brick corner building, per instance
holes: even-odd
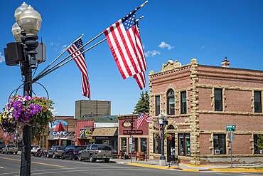
[[[135,166],[139,166],[139,167],[154,167],[154,168],[159,168],[159,169],[172,169],[172,170],[181,170],[181,171],[188,171],[188,172],[202,172],[202,171],[210,171],[210,172],[263,172],[263,170],[224,170],[224,168],[227,167],[231,167],[231,165],[188,165],[188,164],[183,164],[183,163],[179,163],[179,165],[177,166],[177,164],[171,163],[171,166],[169,167],[168,163],[166,166],[161,167],[159,166],[159,161],[156,160],[144,160],[144,161],[139,161],[139,160],[135,160],[132,159],[132,161],[130,159],[127,160],[122,160],[122,159],[111,159],[110,161],[112,162],[116,162],[117,164],[122,164],[122,165],[135,165]],[[247,164],[247,165],[240,165],[240,164],[233,164],[233,167],[262,167],[263,165],[260,164]],[[217,168],[217,169],[215,169]],[[218,168],[220,168],[220,170],[218,170]]]

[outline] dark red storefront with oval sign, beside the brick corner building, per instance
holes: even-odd
[[[149,155],[149,123],[144,120],[140,128],[136,128],[138,114],[119,115],[119,150],[132,153],[136,157],[139,152]]]

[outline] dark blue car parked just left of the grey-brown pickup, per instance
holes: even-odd
[[[70,160],[77,159],[78,157],[78,152],[81,150],[84,150],[84,145],[68,145],[65,147],[61,154],[61,159],[69,158]]]

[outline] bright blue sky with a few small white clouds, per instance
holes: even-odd
[[[6,66],[4,48],[14,42],[11,26],[16,22],[14,11],[23,1],[6,1],[0,11],[0,107],[21,85],[18,66]],[[144,0],[124,1],[26,1],[43,19],[38,41],[47,45],[47,61],[38,66],[36,75],[56,58],[65,46],[82,33],[83,43],[128,14]],[[149,91],[149,71],[161,71],[162,63],[178,60],[182,65],[197,58],[202,65],[221,66],[227,56],[232,68],[261,70],[263,58],[263,1],[252,0],[149,0],[139,9],[141,41],[148,71],[144,88]],[[100,36],[97,42],[104,39]],[[87,49],[96,41],[86,46]],[[59,61],[68,56],[64,54]],[[130,114],[140,98],[141,90],[134,78],[122,79],[107,41],[85,53],[90,78],[91,100],[110,100],[112,115]],[[41,78],[39,81],[54,101],[55,115],[75,115],[75,101],[82,96],[81,73],[74,61]],[[47,96],[33,84],[38,96]],[[18,94],[23,95],[19,90]]]

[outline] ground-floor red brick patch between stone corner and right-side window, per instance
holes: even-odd
[[[211,138],[210,134],[200,134],[198,142],[200,143],[200,155],[211,155],[212,151],[209,147],[212,147],[212,143],[209,142]]]

